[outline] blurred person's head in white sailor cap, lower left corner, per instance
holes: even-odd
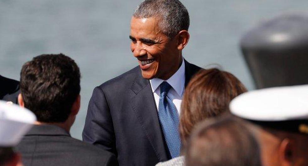
[[[14,147],[35,122],[35,115],[15,104],[0,101],[0,165],[22,165]]]

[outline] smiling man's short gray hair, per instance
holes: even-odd
[[[189,27],[188,11],[179,0],[145,0],[140,3],[133,16],[138,19],[160,19],[158,26],[169,38]]]

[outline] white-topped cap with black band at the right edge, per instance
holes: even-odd
[[[229,108],[243,119],[308,134],[308,85],[249,91],[235,97]]]

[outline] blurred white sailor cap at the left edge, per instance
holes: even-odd
[[[0,101],[0,147],[17,145],[35,121],[30,110]]]

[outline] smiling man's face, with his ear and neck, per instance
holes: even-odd
[[[178,69],[182,61],[176,37],[169,39],[158,27],[155,17],[137,19],[130,22],[130,48],[138,59],[145,79],[167,80]]]

